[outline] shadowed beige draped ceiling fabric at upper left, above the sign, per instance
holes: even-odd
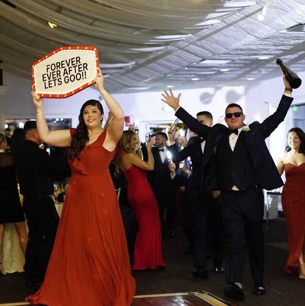
[[[117,64],[165,49],[253,1],[9,0],[0,33],[1,68],[30,76],[31,64],[63,45],[94,45]],[[14,7],[15,6],[15,7]],[[47,22],[57,24],[51,29]],[[11,38],[11,35],[13,38]],[[24,38],[24,39],[23,39]],[[32,39],[29,39],[32,38]],[[125,64],[128,65],[128,62]]]

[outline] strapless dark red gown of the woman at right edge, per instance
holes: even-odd
[[[286,219],[289,256],[285,271],[299,273],[298,259],[305,235],[305,163],[284,165],[286,183],[282,192],[282,206]]]

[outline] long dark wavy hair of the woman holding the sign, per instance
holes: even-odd
[[[103,107],[98,100],[88,100],[82,105],[78,115],[79,123],[76,127],[76,132],[72,137],[71,146],[68,148],[68,156],[71,160],[74,160],[75,158],[79,159],[79,153],[84,149],[86,143],[89,141],[88,129],[83,118],[83,112],[87,105],[97,106],[101,115],[104,115]]]

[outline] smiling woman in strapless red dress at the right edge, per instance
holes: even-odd
[[[278,162],[280,174],[285,170],[286,183],[282,205],[286,219],[289,256],[285,271],[299,273],[305,279],[305,134],[300,128],[290,129],[287,153]]]

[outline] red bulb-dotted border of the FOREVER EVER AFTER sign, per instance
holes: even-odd
[[[33,65],[32,65],[32,90],[36,91],[36,85],[35,85],[35,77],[34,77],[34,67],[39,64],[40,62],[42,62],[43,60],[47,59],[48,57],[62,51],[62,50],[92,50],[95,51],[95,63],[96,63],[96,73],[98,72],[97,68],[99,68],[99,63],[98,63],[98,51],[97,48],[93,47],[93,46],[64,46],[64,47],[60,47],[57,48],[56,50],[48,53],[47,55],[45,55],[44,57],[39,58]],[[95,81],[89,81],[88,83],[76,88],[75,90],[73,90],[72,92],[69,92],[67,94],[64,95],[58,95],[58,94],[42,94],[42,93],[38,93],[39,96],[44,97],[44,98],[66,98],[68,96],[72,96],[78,92],[80,92],[81,90],[91,86],[92,84],[94,84]]]

